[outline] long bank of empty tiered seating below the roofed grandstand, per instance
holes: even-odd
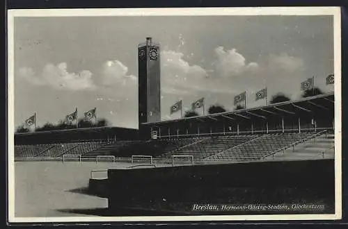
[[[295,142],[313,137],[315,133],[277,133],[267,135],[221,135],[183,139],[151,139],[148,141],[80,142],[15,146],[15,157],[54,158],[63,155],[81,155],[97,158],[114,155],[129,158],[132,155],[152,155],[159,160],[173,155],[190,155],[203,162],[260,160]]]

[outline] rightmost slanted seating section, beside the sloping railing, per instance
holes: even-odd
[[[231,149],[205,158],[209,161],[246,161],[260,160],[262,157],[282,149],[285,146],[298,142],[312,136],[313,133],[287,133],[287,134],[270,134],[261,135],[251,139],[244,144],[239,144]]]

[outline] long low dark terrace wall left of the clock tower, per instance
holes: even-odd
[[[107,141],[119,139],[138,139],[139,131],[131,128],[100,127],[77,128],[72,130],[39,131],[34,133],[15,134],[15,145],[52,144],[68,142]]]

